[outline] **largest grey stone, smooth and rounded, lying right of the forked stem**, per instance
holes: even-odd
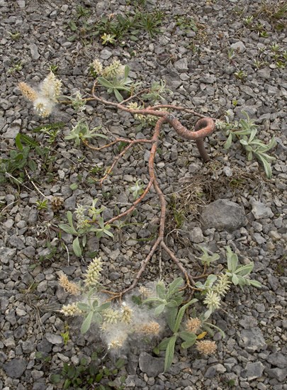
[[[203,228],[215,228],[232,232],[246,225],[244,208],[227,199],[218,199],[210,203],[201,213]]]

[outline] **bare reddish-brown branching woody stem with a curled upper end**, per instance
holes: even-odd
[[[140,91],[137,94],[130,96],[130,98],[125,99],[122,103],[114,103],[111,101],[106,101],[105,99],[100,98],[99,96],[95,95],[95,87],[96,83],[94,84],[92,94],[94,96],[94,100],[99,101],[102,104],[105,104],[106,106],[113,106],[115,108],[118,108],[119,110],[129,112],[131,114],[141,114],[141,115],[153,115],[157,116],[159,119],[154,127],[154,132],[152,135],[152,138],[150,140],[147,139],[141,139],[141,140],[127,140],[125,138],[117,138],[113,142],[109,143],[108,145],[104,145],[102,147],[96,148],[96,147],[91,147],[91,149],[94,150],[102,150],[105,147],[109,147],[112,145],[115,145],[116,143],[122,141],[125,143],[128,143],[127,146],[123,149],[122,152],[113,160],[113,164],[111,167],[108,169],[108,172],[106,172],[106,175],[101,179],[101,183],[103,180],[107,177],[107,175],[111,172],[113,167],[115,167],[116,163],[118,160],[120,160],[123,155],[125,155],[125,152],[127,152],[130,147],[135,145],[136,143],[150,143],[152,144],[151,150],[150,150],[150,157],[148,161],[148,171],[150,175],[150,181],[148,182],[145,191],[143,191],[142,195],[133,202],[133,205],[128,208],[128,210],[123,211],[123,213],[120,213],[118,216],[115,216],[111,218],[109,221],[106,222],[106,225],[113,223],[114,221],[122,218],[123,216],[127,216],[128,214],[132,213],[135,210],[135,207],[140,204],[140,202],[145,199],[145,196],[147,193],[150,191],[151,187],[154,186],[155,191],[157,192],[157,196],[159,197],[159,204],[160,204],[160,221],[159,221],[159,233],[157,240],[155,240],[154,245],[152,245],[152,248],[150,250],[150,253],[147,255],[145,258],[144,262],[142,262],[142,266],[140,267],[140,270],[137,272],[137,275],[135,276],[135,279],[133,280],[133,283],[125,290],[121,291],[118,294],[112,294],[113,297],[111,299],[115,299],[116,297],[120,298],[123,296],[123,294],[126,294],[128,291],[132,290],[136,285],[137,282],[139,281],[140,277],[142,276],[142,273],[145,271],[145,268],[147,267],[147,264],[150,262],[152,259],[152,256],[154,255],[154,252],[157,249],[162,248],[169,257],[171,257],[171,260],[174,261],[177,267],[181,270],[181,272],[184,274],[186,277],[186,280],[188,280],[188,285],[189,283],[193,286],[194,288],[196,282],[195,279],[201,279],[203,277],[206,277],[206,272],[204,271],[203,274],[199,277],[192,277],[191,274],[189,274],[184,266],[181,264],[181,262],[177,259],[177,257],[174,255],[174,252],[172,252],[169,247],[164,243],[164,226],[165,226],[165,218],[166,218],[166,201],[164,199],[164,194],[162,193],[162,190],[159,188],[159,184],[157,182],[157,179],[155,177],[155,172],[154,172],[154,158],[155,154],[157,152],[157,143],[159,141],[159,134],[162,129],[162,125],[164,123],[169,123],[170,126],[174,128],[176,133],[184,139],[187,140],[196,140],[196,145],[198,147],[198,151],[201,154],[201,157],[203,158],[204,161],[207,161],[209,159],[208,154],[206,152],[206,149],[203,144],[203,139],[206,138],[206,136],[210,135],[213,133],[213,130],[215,129],[215,122],[213,121],[212,118],[206,118],[205,116],[196,113],[195,111],[189,110],[189,112],[193,113],[195,116],[199,116],[201,119],[199,119],[196,122],[196,126],[194,128],[194,131],[188,130],[185,126],[181,124],[179,119],[176,117],[172,116],[169,112],[167,111],[158,111],[159,108],[170,108],[174,109],[177,111],[186,111],[188,112],[188,108],[184,107],[177,107],[173,105],[157,105],[157,106],[152,106],[152,107],[147,107],[147,108],[140,108],[140,109],[133,109],[133,108],[128,108],[127,106],[124,106],[125,103],[130,101],[131,99],[140,96],[144,91]],[[89,145],[88,143],[85,143],[85,145]],[[109,300],[111,300],[109,299]]]

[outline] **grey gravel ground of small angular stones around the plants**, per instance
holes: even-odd
[[[181,140],[170,128],[164,128],[156,159],[159,184],[167,201],[177,192],[178,202],[186,203],[189,209],[180,229],[176,229],[170,212],[170,247],[194,272],[198,243],[220,253],[231,245],[241,262],[254,261],[252,277],[263,286],[246,288],[244,292],[233,288],[227,295],[223,310],[213,315],[227,337],[222,340],[220,333],[215,334],[218,352],[212,357],[181,350],[169,372],[161,374],[162,360],[152,360],[151,347],[130,345],[125,351],[127,364],[121,371],[127,377],[125,389],[287,389],[287,80],[286,69],[276,65],[271,50],[274,44],[279,45],[281,53],[286,50],[286,33],[276,29],[276,21],[268,13],[259,12],[261,1],[166,0],[147,5],[151,9],[157,6],[164,13],[162,34],[154,38],[141,34],[137,42],[127,36],[123,46],[103,47],[99,38],[89,42],[83,28],[76,31],[77,39],[70,39],[74,32],[69,21],[77,20],[79,5],[89,9],[89,24],[103,14],[125,13],[134,7],[133,1],[127,5],[125,0],[0,2],[1,157],[7,157],[9,150],[15,148],[20,130],[35,137],[33,128],[64,122],[55,143],[49,144],[45,134],[37,134],[38,142],[51,151],[45,159],[38,158],[36,173],[28,172],[31,179],[26,175],[23,184],[8,181],[0,189],[0,390],[55,389],[50,382],[52,372],[57,372],[64,362],[77,363],[79,357],[91,356],[99,340],[94,340],[92,332],[80,336],[79,323],[68,321],[70,340],[66,345],[60,336],[66,329],[67,318],[57,310],[69,299],[59,288],[57,275],[63,270],[70,279],[79,280],[90,258],[79,261],[74,257],[72,237],[63,234],[63,243],[70,252],[68,258],[57,239],[57,225],[65,221],[65,213],[73,211],[76,204],[89,204],[95,197],[106,206],[104,218],[111,218],[116,207],[123,211],[133,201],[129,186],[136,179],[148,181],[148,156],[142,147],[135,147],[133,153],[126,155],[100,188],[91,180],[95,175],[91,169],[111,165],[117,150],[100,154],[64,141],[64,135],[79,118],[87,118],[91,126],[103,124],[107,134],[139,137],[128,113],[118,115],[114,110],[91,104],[84,113],[76,114],[68,106],[59,106],[50,118],[40,120],[17,88],[20,81],[37,84],[47,75],[50,65],[57,65],[65,94],[77,89],[87,93],[91,87],[88,69],[94,57],[106,63],[111,57],[118,57],[130,65],[132,76],[145,84],[165,79],[174,92],[169,103],[190,106],[215,118],[228,111],[238,119],[246,111],[259,126],[261,140],[266,142],[273,135],[277,140],[272,150],[276,156],[273,177],[267,180],[261,166],[255,160],[247,162],[240,147],[232,146],[228,152],[223,149],[225,136],[220,130],[209,137],[212,158],[203,164],[194,143]],[[251,15],[252,26],[257,28],[244,23]],[[196,32],[188,28],[186,16],[196,21]],[[184,18],[184,26],[177,26],[176,21]],[[266,33],[262,34],[258,23],[264,25]],[[235,57],[228,57],[230,48]],[[259,69],[254,60],[261,62]],[[239,70],[244,72],[243,79],[235,77]],[[192,121],[189,117],[184,116],[184,123]],[[150,133],[148,128],[141,131],[144,135]],[[70,189],[72,183],[78,184],[74,191]],[[200,201],[194,195],[196,185],[202,194]],[[37,208],[36,202],[44,199],[39,190],[49,199],[47,209]],[[64,200],[60,211],[51,207],[55,196]],[[203,205],[219,199],[220,213],[226,219],[230,215],[233,218],[231,222],[228,219],[231,228],[224,221],[221,228],[210,228],[215,223],[212,218],[208,220],[210,213],[205,221],[199,221]],[[240,211],[234,204],[240,206]],[[133,281],[151,245],[149,240],[139,239],[154,234],[158,211],[157,200],[150,195],[130,218],[131,223],[140,225],[123,228],[114,240],[89,238],[89,250],[97,250],[102,257],[104,284],[109,288],[123,289]],[[164,255],[162,268],[167,281],[179,275]],[[158,274],[154,257],[142,283],[157,279]],[[49,360],[38,359],[37,352]]]

